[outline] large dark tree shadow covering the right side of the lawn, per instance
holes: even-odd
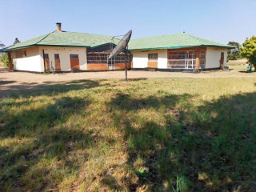
[[[197,107],[190,98],[118,94],[109,103],[127,142],[126,164],[138,177],[125,185],[130,191],[254,191],[256,93]]]

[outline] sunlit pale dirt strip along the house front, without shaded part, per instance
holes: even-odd
[[[128,78],[255,78],[256,74],[243,73],[235,70],[230,72],[222,70],[205,71],[200,74],[182,73],[182,72],[160,72],[160,71],[128,71]],[[63,82],[79,79],[108,79],[125,78],[124,71],[104,71],[104,72],[82,72],[82,73],[64,73],[64,74],[34,74],[28,72],[9,72],[0,71],[0,81],[19,82]]]

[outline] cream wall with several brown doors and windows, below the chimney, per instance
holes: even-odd
[[[70,54],[78,54],[80,70],[87,70],[86,47],[60,47],[60,46],[40,46],[40,57],[43,63],[42,50],[49,54],[50,68],[55,69],[54,54],[59,54],[61,70],[71,70]]]

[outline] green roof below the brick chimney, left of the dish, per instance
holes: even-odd
[[[112,40],[111,36],[100,34],[84,34],[68,31],[54,31],[50,34],[43,34],[37,38],[32,38],[25,42],[19,42],[13,46],[8,46],[2,51],[18,50],[30,46],[81,46],[94,48],[97,46],[120,41],[118,38]]]

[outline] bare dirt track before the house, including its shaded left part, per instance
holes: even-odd
[[[34,74],[28,72],[9,72],[0,69],[0,98],[16,91],[34,90],[39,86],[65,84],[74,80],[125,78],[124,71],[82,72],[64,74]],[[247,74],[237,70],[206,71],[200,74],[160,71],[128,71],[128,78],[256,78],[256,73]]]

